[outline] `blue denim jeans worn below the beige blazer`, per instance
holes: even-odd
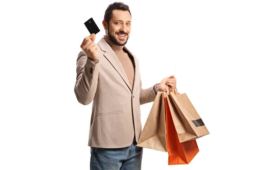
[[[143,148],[136,144],[114,149],[91,147],[90,170],[141,170]]]

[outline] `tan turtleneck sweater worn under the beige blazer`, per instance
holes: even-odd
[[[124,71],[126,73],[126,76],[130,82],[131,89],[133,89],[134,85],[134,72],[135,72],[135,65],[134,65],[134,58],[131,56],[131,54],[128,53],[123,47],[124,46],[119,46],[113,43],[110,38],[106,35],[104,35],[104,39],[108,44],[111,46],[113,51],[116,54],[116,57],[119,59],[121,62]]]

